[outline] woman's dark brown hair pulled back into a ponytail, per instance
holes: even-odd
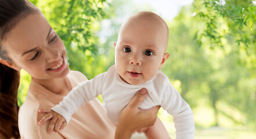
[[[6,34],[19,21],[39,9],[28,0],[0,0],[0,59],[12,63],[3,46]],[[17,92],[19,71],[0,63],[0,138],[20,138],[18,129]]]

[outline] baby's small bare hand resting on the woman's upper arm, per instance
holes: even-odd
[[[48,131],[47,131],[48,134],[51,134],[53,129],[55,129],[56,132],[59,132],[67,125],[66,119],[62,115],[58,114],[57,112],[52,111],[52,109],[38,109],[38,112],[48,113],[41,120],[39,120],[39,122],[38,122],[39,125],[42,125],[47,120],[52,119],[52,121],[48,127]]]

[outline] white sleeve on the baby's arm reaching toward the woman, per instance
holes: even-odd
[[[52,110],[62,115],[68,123],[71,116],[81,105],[98,97],[99,94],[102,93],[99,86],[101,85],[100,81],[103,82],[103,77],[100,75],[89,81],[79,83],[78,86],[74,87],[58,105],[52,108]]]

